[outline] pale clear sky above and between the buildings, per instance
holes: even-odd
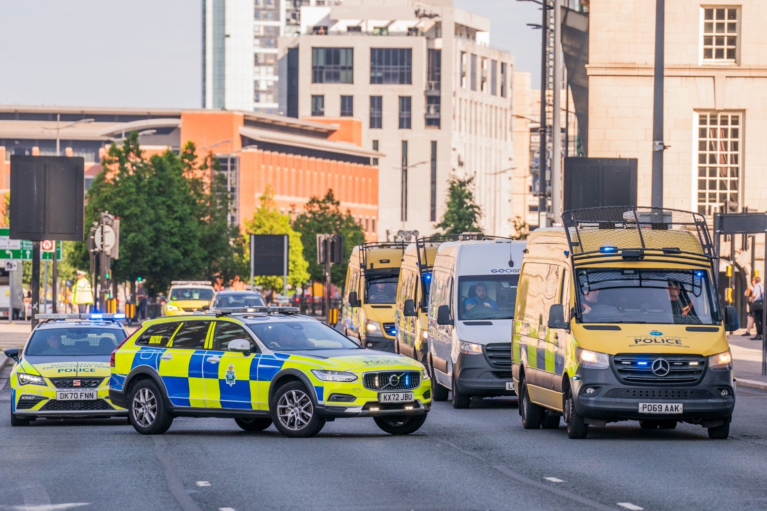
[[[533,2],[453,0],[491,19],[490,44],[540,74]],[[200,0],[0,0],[0,104],[199,108]],[[535,81],[535,80],[534,80]]]

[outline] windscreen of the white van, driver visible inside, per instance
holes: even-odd
[[[458,319],[512,319],[519,274],[458,277]]]

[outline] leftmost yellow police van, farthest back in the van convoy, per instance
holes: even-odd
[[[405,246],[402,241],[385,241],[357,245],[351,251],[344,285],[344,332],[366,348],[394,351],[394,304]]]

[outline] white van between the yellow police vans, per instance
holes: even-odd
[[[515,395],[512,324],[524,241],[439,246],[427,319],[435,401],[469,408],[472,395]]]

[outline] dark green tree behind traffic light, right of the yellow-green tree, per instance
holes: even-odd
[[[354,221],[351,211],[341,211],[341,202],[333,195],[333,190],[323,198],[312,197],[306,203],[301,215],[296,217],[293,228],[301,233],[304,243],[304,258],[309,263],[312,280],[324,280],[324,268],[317,264],[317,234],[341,234],[344,236],[344,261],[331,268],[331,280],[337,286],[344,284],[348,257],[355,245],[365,242],[365,234],[360,224]]]

